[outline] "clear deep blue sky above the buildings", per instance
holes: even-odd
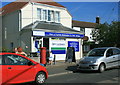
[[[11,1],[15,0],[0,0],[2,5],[5,6]],[[95,18],[100,17],[100,22],[111,23],[118,21],[118,2],[119,0],[54,0],[59,4],[65,6],[73,20],[93,22]],[[120,3],[120,2],[119,2]]]

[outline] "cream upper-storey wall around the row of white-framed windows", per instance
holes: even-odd
[[[50,5],[42,5],[42,4],[32,5],[31,3],[29,3],[24,8],[21,9],[22,28],[38,20],[37,19],[37,8],[60,11],[60,23],[66,27],[71,28],[72,17],[65,8],[55,7],[55,6],[50,6]]]

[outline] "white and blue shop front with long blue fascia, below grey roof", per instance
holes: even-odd
[[[31,51],[40,52],[41,47],[46,47],[47,52],[51,51],[56,60],[65,60],[69,47],[73,47],[76,59],[82,57],[82,39],[83,34],[45,32],[40,30],[32,31]]]

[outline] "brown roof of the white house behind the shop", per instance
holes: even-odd
[[[95,28],[97,23],[83,22],[83,21],[72,21],[73,27],[83,27],[83,28]]]

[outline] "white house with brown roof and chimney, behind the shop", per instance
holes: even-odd
[[[96,19],[98,22],[98,20]],[[92,32],[95,30],[98,23],[91,23],[91,22],[83,22],[83,21],[72,21],[72,28],[74,30],[83,32],[87,41],[84,41],[83,44],[83,51],[88,52],[90,49],[93,48],[92,44],[95,43],[93,40]]]

